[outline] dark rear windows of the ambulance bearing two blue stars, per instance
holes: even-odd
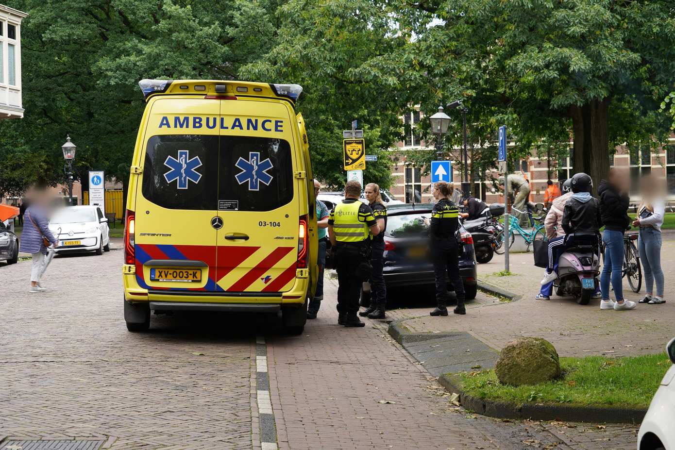
[[[148,140],[143,196],[171,209],[267,211],[293,198],[286,140],[162,135]]]

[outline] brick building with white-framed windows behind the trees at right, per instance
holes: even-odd
[[[431,191],[429,185],[431,184],[431,175],[422,175],[423,167],[416,167],[406,159],[405,152],[421,150],[425,147],[425,142],[421,140],[420,134],[416,132],[416,125],[420,120],[420,112],[413,111],[403,118],[406,125],[405,140],[398,142],[396,148],[392,150],[404,150],[403,154],[399,156],[400,152],[393,157],[394,169],[392,175],[394,176],[394,184],[389,188],[389,192],[393,194],[398,200],[404,202],[412,202],[413,194],[415,202],[429,202],[431,198]],[[454,149],[456,154],[460,154],[461,148]],[[572,167],[572,142],[570,142],[570,153],[567,157],[558,161],[547,162],[547,159],[539,159],[533,155],[529,159],[520,161],[520,171],[526,175],[530,180],[531,186],[531,200],[533,202],[543,202],[544,191],[546,189],[546,181],[564,180],[574,175],[575,171]],[[470,152],[469,152],[470,164]],[[666,179],[668,186],[668,198],[675,201],[675,136],[670,139],[670,144],[659,148],[658,152],[651,152],[649,146],[640,145],[624,145],[616,148],[616,153],[610,159],[610,166],[626,167],[630,169],[632,179],[637,179],[640,175],[653,173],[659,177]],[[462,173],[453,167],[453,182],[456,188],[460,188],[462,182]],[[504,202],[504,196],[496,192],[492,192],[495,186],[492,179],[497,179],[499,173],[496,169],[485,174],[485,179],[476,180],[477,191],[481,193],[480,197],[487,203]],[[637,184],[633,183],[633,188],[637,188]],[[633,193],[637,194],[636,192]],[[632,200],[637,200],[637,196],[631,196]]]

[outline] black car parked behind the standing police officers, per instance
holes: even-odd
[[[403,286],[433,285],[433,264],[429,255],[429,229],[425,219],[431,219],[433,204],[393,204],[387,206],[383,275],[387,290]],[[473,240],[460,225],[462,251],[459,266],[466,300],[476,298],[477,273]],[[448,283],[452,287],[452,283]],[[369,297],[365,286],[364,296]],[[369,298],[364,299],[369,301]]]

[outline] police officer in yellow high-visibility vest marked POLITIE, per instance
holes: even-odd
[[[365,326],[356,315],[364,281],[360,271],[369,258],[370,233],[377,236],[380,232],[373,210],[358,200],[360,194],[360,183],[348,181],[344,201],[335,205],[328,217],[328,237],[338,269],[338,324],[345,327]]]

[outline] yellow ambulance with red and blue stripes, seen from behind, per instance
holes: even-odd
[[[297,84],[142,80],[124,230],[124,319],[277,314],[302,333],[317,218]]]

